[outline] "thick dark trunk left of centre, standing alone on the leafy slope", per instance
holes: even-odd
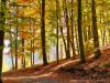
[[[47,64],[46,58],[46,46],[45,46],[45,0],[42,0],[42,27],[41,27],[41,35],[42,35],[42,54],[43,54],[43,64]]]

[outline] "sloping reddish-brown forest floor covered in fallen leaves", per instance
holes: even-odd
[[[79,59],[68,59],[6,72],[3,83],[110,83],[110,46],[102,48],[101,53],[97,60],[88,56],[84,64]]]

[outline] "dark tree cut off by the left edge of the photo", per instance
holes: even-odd
[[[3,40],[4,40],[4,9],[6,9],[6,0],[1,0],[1,12],[0,12],[0,83],[2,83],[2,51],[3,51]]]

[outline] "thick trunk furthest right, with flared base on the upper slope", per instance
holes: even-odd
[[[96,2],[91,0],[92,7],[92,35],[94,35],[94,44],[95,44],[95,58],[99,58],[101,55],[100,48],[99,48],[99,37],[98,37],[98,29],[97,29],[97,17],[96,17]]]

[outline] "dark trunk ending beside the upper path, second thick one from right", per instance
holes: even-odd
[[[81,0],[78,0],[78,37],[79,37],[79,50],[80,50],[80,61],[86,62],[85,50],[82,42],[82,30],[81,30]]]

